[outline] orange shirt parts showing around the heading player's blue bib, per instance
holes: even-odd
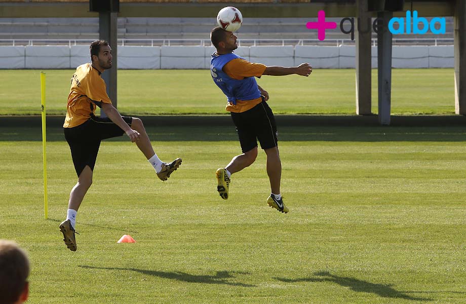
[[[237,58],[226,63],[222,70],[232,79],[242,80],[246,77],[261,77],[267,66],[260,63],[252,63],[247,60]],[[262,102],[262,98],[252,100],[237,100],[236,104],[228,102],[226,110],[229,112],[241,113]]]

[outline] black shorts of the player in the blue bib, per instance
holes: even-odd
[[[278,133],[274,113],[263,99],[245,112],[231,112],[231,119],[235,123],[243,153],[257,147],[257,139],[262,149],[277,146]]]

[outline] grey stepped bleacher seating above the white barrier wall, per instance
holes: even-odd
[[[340,22],[341,18],[328,18]],[[446,17],[447,33],[398,35],[399,38],[452,38],[453,18]],[[240,39],[317,39],[317,31],[305,27],[317,18],[245,18]],[[118,18],[119,39],[209,39],[215,18]],[[0,18],[0,39],[97,39],[98,18]],[[373,37],[376,34],[373,33]],[[339,26],[326,31],[326,39],[348,39]]]

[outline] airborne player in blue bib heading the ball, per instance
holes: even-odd
[[[271,190],[267,204],[287,213],[289,208],[283,203],[280,193],[282,163],[278,150],[277,125],[274,113],[266,102],[269,94],[257,85],[254,77],[291,74],[307,77],[312,72],[312,66],[307,63],[295,67],[251,63],[233,53],[238,48],[237,36],[221,27],[211,31],[210,39],[217,49],[211,60],[212,80],[227,97],[226,110],[235,123],[243,151],[243,154],[235,156],[225,168],[217,169],[218,194],[222,199],[228,199],[231,174],[254,163],[259,140],[260,147],[267,156],[267,175]]]

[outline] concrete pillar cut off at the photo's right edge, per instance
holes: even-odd
[[[456,0],[454,15],[455,113],[466,115],[466,3]]]

